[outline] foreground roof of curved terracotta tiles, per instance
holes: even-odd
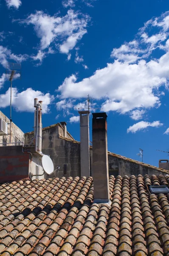
[[[54,178],[0,185],[1,256],[168,256],[169,175],[110,176],[111,206],[93,204],[93,180]]]

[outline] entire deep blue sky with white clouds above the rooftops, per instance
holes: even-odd
[[[32,131],[33,99],[43,127],[66,121],[79,140],[77,108],[108,115],[108,150],[158,166],[169,151],[168,0],[0,0],[0,110]],[[100,110],[98,110],[98,108]],[[90,140],[92,116],[90,115]],[[167,130],[168,129],[168,130]]]

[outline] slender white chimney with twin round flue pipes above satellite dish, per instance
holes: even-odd
[[[42,101],[34,99],[34,107],[35,151],[42,152]]]

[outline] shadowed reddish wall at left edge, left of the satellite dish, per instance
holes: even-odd
[[[0,183],[28,177],[30,154],[22,146],[0,148]]]

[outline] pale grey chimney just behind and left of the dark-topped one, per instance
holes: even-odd
[[[90,176],[89,113],[90,113],[89,111],[79,111],[81,177]]]

